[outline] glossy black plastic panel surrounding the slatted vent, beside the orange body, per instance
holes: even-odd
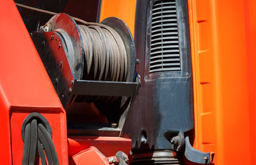
[[[132,152],[175,150],[170,139],[194,127],[187,4],[185,0],[175,1],[180,70],[150,73],[154,3],[156,1],[140,0],[136,6],[134,41],[137,59],[140,59],[136,70],[141,75],[141,88],[124,127],[132,139]]]

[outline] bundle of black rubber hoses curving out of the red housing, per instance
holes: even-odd
[[[46,158],[49,165],[59,165],[51,126],[43,115],[30,113],[22,123],[21,135],[24,142],[22,165],[35,164],[36,149],[42,165],[46,165]]]

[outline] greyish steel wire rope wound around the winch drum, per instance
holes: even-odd
[[[86,80],[125,81],[127,54],[119,34],[107,25],[78,25],[83,41]]]

